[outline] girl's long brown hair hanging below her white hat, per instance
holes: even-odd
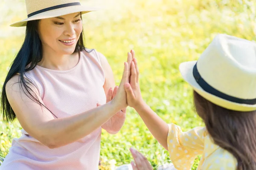
[[[237,170],[256,170],[256,111],[229,110],[193,94],[195,109],[215,144],[233,154]]]

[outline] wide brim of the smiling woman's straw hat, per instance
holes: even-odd
[[[67,14],[73,14],[76,12],[81,12],[81,14],[85,14],[91,11],[98,11],[100,8],[94,8],[94,7],[85,7],[85,6],[68,6],[64,8],[58,8],[46,12],[42,12],[40,14],[36,14],[32,17],[29,17],[25,20],[16,22],[11,24],[10,26],[12,27],[21,27],[21,26],[26,26],[26,23],[28,21],[32,20],[41,20],[41,19],[46,19],[46,18],[52,18],[52,17],[59,17]]]

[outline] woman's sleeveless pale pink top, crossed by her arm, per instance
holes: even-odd
[[[72,116],[105,104],[105,75],[99,53],[80,52],[79,62],[67,71],[37,65],[26,72],[47,108],[58,118]],[[36,114],[36,113],[35,113]],[[0,170],[98,170],[101,127],[63,147],[49,149],[22,130],[13,139]]]

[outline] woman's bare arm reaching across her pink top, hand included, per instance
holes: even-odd
[[[128,61],[130,60],[128,59]],[[125,82],[128,82],[129,64],[125,62],[120,88],[111,102],[74,116],[54,119],[50,111],[29,99],[21,91],[20,85],[17,83],[19,82],[18,75],[12,77],[6,84],[7,98],[20,125],[29,135],[49,148],[61,147],[92,133],[107,122],[117,111],[127,106],[123,86]],[[39,101],[43,103],[37,89],[33,85],[29,86],[35,92]]]

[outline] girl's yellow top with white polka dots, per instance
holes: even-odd
[[[205,127],[187,132],[169,124],[167,137],[170,159],[177,170],[190,170],[197,155],[202,155],[197,170],[236,170],[236,158],[214,144]]]

